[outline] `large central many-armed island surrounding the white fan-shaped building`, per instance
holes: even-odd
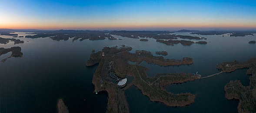
[[[104,47],[102,51],[92,53],[86,66],[99,64],[93,74],[93,85],[95,92],[106,91],[108,93],[107,112],[128,113],[129,105],[124,95],[124,90],[131,85],[137,86],[144,95],[152,101],[162,102],[168,106],[186,106],[194,102],[195,95],[191,93],[173,94],[164,90],[163,86],[172,83],[183,83],[190,80],[199,79],[200,75],[186,73],[159,73],[154,78],[150,78],[146,67],[130,65],[128,61],[136,64],[146,61],[160,66],[191,64],[193,59],[184,57],[182,60],[164,59],[163,57],[153,56],[145,50],[136,50],[130,53],[131,47]],[[114,84],[109,77],[111,73],[116,75],[116,80],[124,79],[126,76],[133,76],[134,80],[125,88],[121,89]],[[126,79],[124,79],[126,80]]]

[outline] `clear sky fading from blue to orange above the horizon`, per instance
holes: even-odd
[[[256,0],[0,0],[0,28],[256,30]]]

